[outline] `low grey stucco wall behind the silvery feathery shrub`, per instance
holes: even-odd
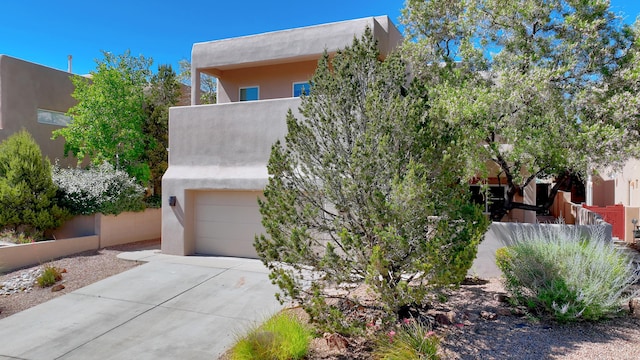
[[[502,272],[496,265],[496,250],[512,244],[512,239],[518,234],[532,231],[537,227],[577,226],[584,235],[594,231],[593,225],[559,225],[559,224],[522,224],[494,222],[484,235],[484,240],[478,246],[478,255],[469,269],[469,276],[478,276],[483,279],[500,277]],[[611,240],[611,225],[604,223],[605,239]]]

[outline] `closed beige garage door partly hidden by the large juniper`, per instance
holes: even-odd
[[[264,233],[255,191],[200,191],[195,196],[196,253],[256,258]]]

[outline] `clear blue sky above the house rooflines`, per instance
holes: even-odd
[[[627,22],[640,14],[640,0],[611,0]],[[3,0],[0,54],[73,72],[95,68],[101,50],[131,50],[159,64],[188,59],[195,42],[388,15],[399,23],[403,0],[325,1],[137,1]]]

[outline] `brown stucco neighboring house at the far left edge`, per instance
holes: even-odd
[[[53,130],[70,120],[65,113],[75,104],[68,72],[0,55],[0,141],[27,130],[53,163],[75,166],[64,158],[64,139],[51,140]]]

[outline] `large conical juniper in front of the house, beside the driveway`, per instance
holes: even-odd
[[[405,87],[397,56],[379,57],[370,30],[324,55],[259,202],[268,236],[255,247],[271,279],[332,331],[352,325],[345,306],[360,304],[363,282],[397,314],[462,281],[487,226],[465,198],[464,134],[425,117],[425,88]]]

